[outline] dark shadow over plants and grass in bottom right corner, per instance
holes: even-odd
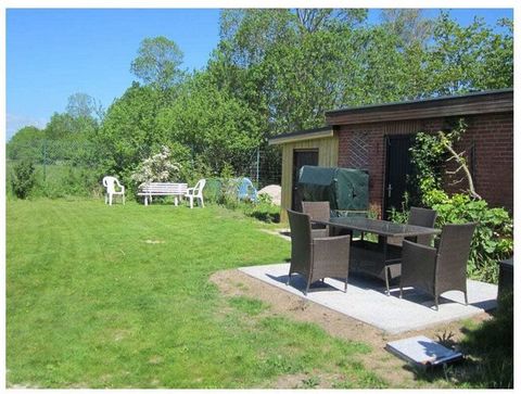
[[[507,294],[491,320],[476,328],[463,328],[465,338],[456,343],[439,339],[447,347],[457,347],[465,359],[425,370],[412,366],[405,368],[417,380],[434,382],[445,380],[452,386],[468,389],[513,389],[513,296]]]

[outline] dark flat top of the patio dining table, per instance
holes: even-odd
[[[435,228],[401,225],[397,223],[368,219],[365,217],[331,217],[329,220],[312,219],[312,223],[371,232],[384,237],[417,237],[442,232],[442,230]]]

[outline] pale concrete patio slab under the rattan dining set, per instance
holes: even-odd
[[[287,285],[290,264],[239,268],[242,272],[269,283],[282,291],[296,294],[341,314],[347,315],[390,334],[419,330],[443,322],[460,320],[497,306],[497,285],[467,281],[469,305],[465,305],[461,292],[446,292],[440,297],[440,310],[434,309],[432,297],[404,289],[404,297],[398,297],[398,289],[385,295],[385,285],[377,280],[350,276],[347,292],[340,280],[327,278],[325,282],[312,284],[307,296],[304,295],[305,280],[293,275]]]

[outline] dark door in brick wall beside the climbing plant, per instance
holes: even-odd
[[[386,165],[383,198],[383,216],[394,207],[402,211],[405,193],[408,194],[409,206],[418,204],[415,165],[410,162],[409,148],[415,142],[415,135],[386,136]]]

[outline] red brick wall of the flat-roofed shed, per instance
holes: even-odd
[[[473,145],[476,192],[491,206],[513,212],[513,114],[466,116],[467,131],[458,152]],[[350,125],[340,128],[339,166],[369,170],[369,201],[381,213],[385,177],[385,135],[435,132],[444,118]],[[465,187],[459,183],[459,188]],[[458,188],[452,187],[452,191]]]

